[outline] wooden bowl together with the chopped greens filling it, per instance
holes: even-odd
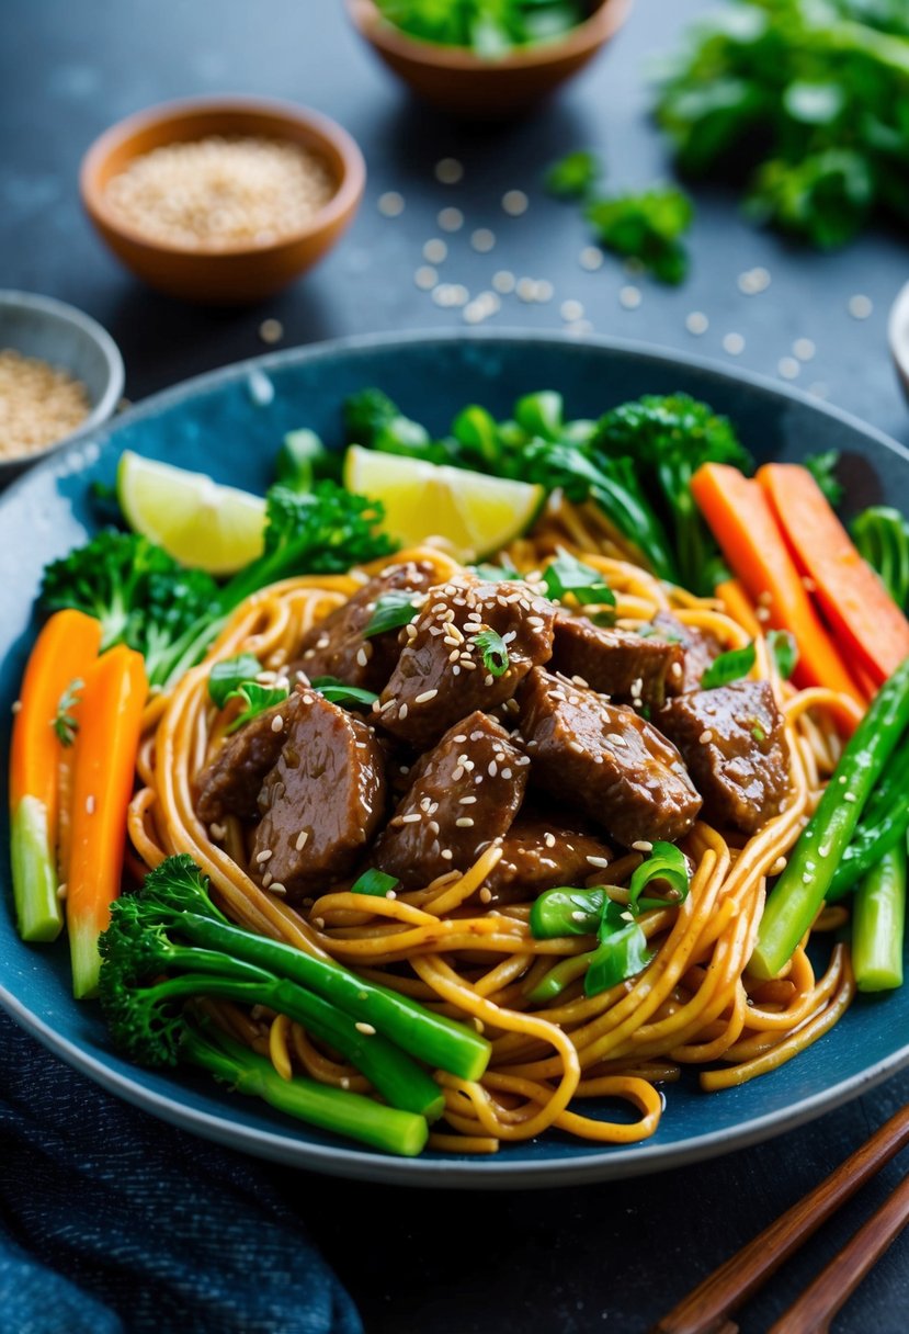
[[[347,5],[363,39],[419,97],[457,116],[505,119],[582,69],[618,31],[630,0]]]

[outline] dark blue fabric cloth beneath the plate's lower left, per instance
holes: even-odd
[[[304,1215],[0,1014],[3,1334],[363,1334]]]

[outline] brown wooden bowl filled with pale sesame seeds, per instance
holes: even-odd
[[[249,304],[335,245],[365,163],[333,120],[293,103],[200,97],[129,116],[88,149],[84,207],[137,277],[204,304]]]

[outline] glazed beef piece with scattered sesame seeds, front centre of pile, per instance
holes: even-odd
[[[473,712],[412,771],[411,787],[373,850],[376,866],[405,888],[466,871],[502,838],[526,788],[529,760],[504,727]]]

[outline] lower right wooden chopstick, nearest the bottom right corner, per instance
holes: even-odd
[[[845,1306],[868,1270],[906,1223],[909,1177],[902,1178],[881,1207],[780,1317],[769,1334],[826,1334],[840,1307]]]

